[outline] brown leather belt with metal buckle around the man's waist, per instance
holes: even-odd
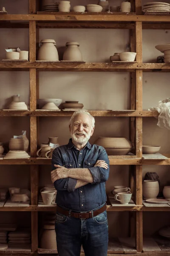
[[[96,209],[95,211],[72,212],[72,211],[62,209],[61,207],[59,207],[57,205],[57,212],[62,213],[62,214],[66,215],[66,216],[69,216],[69,217],[80,218],[80,219],[93,218],[93,217],[97,216],[98,214],[104,212],[106,209],[107,209],[107,205],[105,204],[104,206],[102,206],[99,209]]]

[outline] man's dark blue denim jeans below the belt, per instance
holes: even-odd
[[[56,213],[57,250],[59,256],[79,256],[81,245],[85,256],[107,256],[107,212],[96,217],[79,219]]]

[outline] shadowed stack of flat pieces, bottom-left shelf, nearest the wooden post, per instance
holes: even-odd
[[[30,244],[31,233],[28,231],[14,231],[8,233],[8,244]]]

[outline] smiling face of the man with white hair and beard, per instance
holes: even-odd
[[[70,134],[73,143],[86,144],[94,132],[91,118],[86,114],[74,116],[70,128]]]

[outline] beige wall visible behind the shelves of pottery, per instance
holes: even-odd
[[[81,0],[79,4],[90,3]],[[76,0],[71,1],[72,5]],[[93,1],[97,3],[97,1]],[[113,5],[120,1],[111,1]],[[1,0],[8,13],[28,13],[28,1]],[[169,43],[169,30],[143,30],[143,62],[155,61],[161,52],[155,45]],[[40,29],[41,39],[55,39],[59,55],[62,56],[67,41],[78,41],[83,59],[87,62],[106,62],[114,52],[125,50],[129,44],[127,29]],[[28,50],[28,29],[0,29],[0,59],[5,58],[5,48],[19,46]],[[170,95],[169,73],[143,73],[143,109],[156,106],[159,100]],[[29,72],[0,72],[0,109],[6,108],[10,97],[20,94],[21,100],[29,104]],[[130,109],[130,74],[124,72],[40,72],[40,98],[59,98],[79,100],[84,109]],[[40,117],[39,142],[48,142],[49,136],[58,136],[60,145],[68,142],[69,117]],[[170,131],[161,129],[155,118],[143,119],[143,144],[161,145],[161,153],[170,153]],[[0,142],[8,145],[10,137],[27,130],[28,117],[4,117],[0,119]],[[129,119],[122,117],[96,117],[96,128],[91,143],[99,136],[129,137]],[[40,166],[40,186],[50,183],[51,166]],[[169,166],[143,166],[146,172],[157,172],[161,188],[170,185]],[[106,191],[114,185],[126,185],[129,177],[129,166],[111,166]],[[0,166],[0,187],[20,186],[30,188],[29,166]],[[23,215],[22,215],[23,214]],[[20,213],[25,216],[27,213]],[[3,214],[5,220],[15,213]],[[29,214],[28,214],[29,215]],[[111,236],[128,235],[128,212],[108,212],[109,233]],[[154,215],[154,218],[152,218]],[[8,217],[9,216],[9,217]],[[29,215],[30,216],[30,215]],[[29,217],[29,216],[26,216]],[[1,218],[2,219],[2,218]],[[159,221],[158,221],[159,219]],[[154,233],[164,224],[169,223],[167,213],[145,212],[144,234]],[[154,227],[154,228],[153,228]]]

